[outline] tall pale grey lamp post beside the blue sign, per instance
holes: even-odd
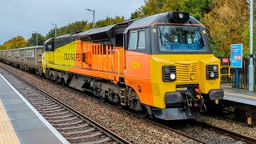
[[[249,90],[254,91],[254,0],[250,0],[250,65],[249,65]]]

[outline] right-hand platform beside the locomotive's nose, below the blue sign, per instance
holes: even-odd
[[[256,91],[232,88],[229,85],[222,85],[224,99],[256,106]]]

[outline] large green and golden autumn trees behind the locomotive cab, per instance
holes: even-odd
[[[247,0],[146,0],[131,14],[139,18],[168,11],[187,11],[206,26],[210,45],[216,56],[229,56],[230,44],[243,43],[249,54],[249,4]],[[254,0],[256,11],[256,0]],[[256,16],[256,13],[254,13]],[[255,17],[254,16],[254,17]],[[255,18],[256,19],[256,18]],[[254,30],[256,26],[254,26]],[[254,43],[256,43],[254,36]],[[254,54],[256,54],[254,44]]]

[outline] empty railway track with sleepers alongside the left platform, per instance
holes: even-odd
[[[86,115],[81,114],[50,94],[33,86],[17,74],[5,68],[3,69],[22,82],[22,85],[16,86],[16,89],[68,142],[130,143],[118,136],[118,134],[114,134],[107,130],[106,127],[86,117]]]

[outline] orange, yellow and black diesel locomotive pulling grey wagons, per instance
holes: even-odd
[[[196,118],[224,97],[206,28],[171,11],[50,38],[43,74],[141,117]]]

